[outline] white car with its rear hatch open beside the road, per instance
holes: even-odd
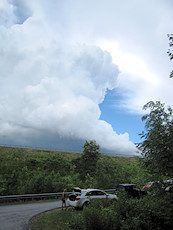
[[[116,195],[108,194],[105,191],[99,189],[81,189],[80,194],[71,194],[68,199],[69,206],[75,209],[88,206],[91,199],[117,199]]]

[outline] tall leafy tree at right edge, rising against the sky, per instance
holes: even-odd
[[[173,176],[173,111],[165,108],[160,101],[150,101],[143,107],[150,109],[144,115],[145,131],[141,138],[144,141],[138,145],[144,156],[145,166],[157,178]]]

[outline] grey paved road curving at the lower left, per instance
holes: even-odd
[[[61,201],[0,206],[0,230],[28,230],[31,217],[59,207]]]

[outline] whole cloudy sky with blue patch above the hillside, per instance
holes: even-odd
[[[172,0],[1,0],[0,144],[139,155],[143,106],[173,107],[172,12]]]

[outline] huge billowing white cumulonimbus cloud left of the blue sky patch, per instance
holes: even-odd
[[[117,135],[99,120],[99,104],[119,74],[111,55],[97,46],[64,42],[41,14],[20,15],[21,1],[15,2],[1,3],[1,139],[22,144],[44,132],[95,139],[115,154],[135,154],[127,133]]]

